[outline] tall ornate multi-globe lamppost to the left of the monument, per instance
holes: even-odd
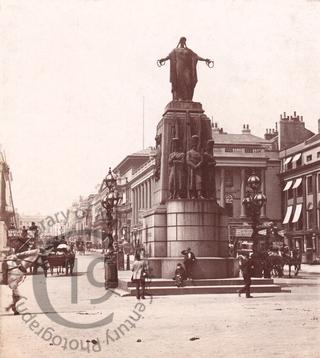
[[[117,225],[115,209],[120,204],[122,197],[117,190],[117,178],[109,168],[108,174],[102,183],[102,190],[107,189],[106,196],[101,201],[101,205],[106,209],[106,252],[105,252],[105,287],[115,288],[118,286],[118,269],[117,269],[117,255],[118,255],[118,235],[113,237],[114,226]]]

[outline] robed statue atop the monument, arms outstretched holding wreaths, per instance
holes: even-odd
[[[194,88],[198,80],[198,61],[205,61],[208,67],[213,67],[213,61],[198,56],[187,47],[186,41],[185,37],[181,37],[178,46],[167,57],[157,62],[160,67],[167,60],[170,60],[170,82],[174,101],[192,101]]]

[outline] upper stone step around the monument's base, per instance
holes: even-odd
[[[269,278],[252,278],[253,285],[270,285],[273,284],[273,279]],[[197,279],[197,280],[187,280],[184,282],[186,287],[194,286],[233,286],[233,285],[243,285],[242,278],[225,278],[225,279]],[[148,282],[148,287],[176,287],[174,280],[168,279],[152,279]],[[131,280],[120,279],[119,288],[128,289],[135,287],[134,282]]]

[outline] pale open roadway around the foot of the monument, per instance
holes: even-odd
[[[90,274],[91,273],[91,274]],[[320,266],[276,279],[291,293],[119,297],[104,289],[96,253],[77,257],[77,275],[27,276],[20,316],[5,312],[1,357],[320,357]],[[125,273],[120,273],[125,275]],[[46,296],[47,295],[47,296]]]

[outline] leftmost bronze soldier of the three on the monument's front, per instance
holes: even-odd
[[[183,190],[183,170],[185,154],[179,152],[179,139],[172,139],[172,152],[169,154],[169,199],[181,199]]]

